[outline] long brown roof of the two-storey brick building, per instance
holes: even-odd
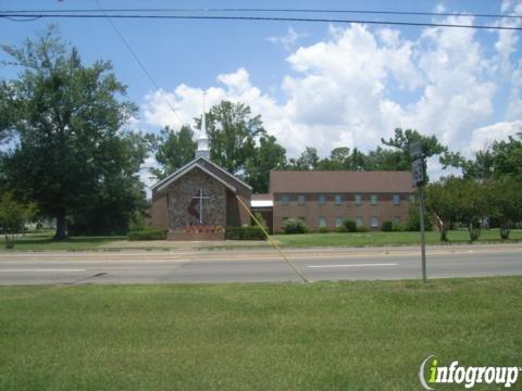
[[[412,192],[409,172],[271,171],[270,191]]]

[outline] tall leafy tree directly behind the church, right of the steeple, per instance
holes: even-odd
[[[201,119],[195,118],[198,129]],[[210,159],[231,174],[241,173],[256,152],[256,138],[265,135],[261,116],[244,103],[222,101],[207,113]]]

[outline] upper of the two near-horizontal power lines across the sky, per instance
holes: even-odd
[[[94,9],[73,10],[8,10],[3,13],[86,13],[96,12]],[[411,16],[473,16],[473,17],[496,17],[496,18],[521,18],[522,15],[483,14],[470,12],[413,12],[413,11],[371,11],[371,10],[339,10],[339,9],[247,9],[247,8],[223,8],[223,9],[104,9],[105,12],[284,12],[284,13],[344,13],[344,14],[373,14],[373,15],[411,15]]]

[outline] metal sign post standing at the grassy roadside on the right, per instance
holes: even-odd
[[[421,218],[421,254],[422,254],[422,280],[427,282],[426,276],[426,228],[424,226],[424,181],[425,181],[425,159],[422,153],[420,142],[414,142],[410,147],[410,155],[415,159],[411,164],[411,181],[419,189],[419,209]]]

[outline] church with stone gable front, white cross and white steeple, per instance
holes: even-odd
[[[225,227],[250,225],[252,188],[210,161],[204,113],[195,159],[152,186],[150,224],[167,239],[224,239]]]

